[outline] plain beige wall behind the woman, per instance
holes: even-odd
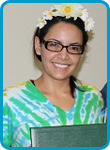
[[[8,3],[4,7],[4,87],[40,76],[41,71],[33,61],[32,37],[37,19],[50,6],[51,3]],[[88,43],[88,50],[76,75],[83,82],[101,89],[107,80],[107,8],[101,3],[84,3],[83,6],[93,17],[95,27],[93,38]]]

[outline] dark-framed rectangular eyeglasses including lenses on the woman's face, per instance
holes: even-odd
[[[61,52],[63,48],[66,48],[68,53],[74,55],[80,55],[84,52],[84,46],[79,44],[71,44],[69,46],[64,46],[61,43],[54,40],[43,40],[42,43],[44,44],[45,48],[51,52]]]

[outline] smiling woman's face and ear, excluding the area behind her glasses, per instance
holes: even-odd
[[[64,46],[74,43],[82,45],[83,43],[81,30],[75,25],[64,22],[51,27],[44,40],[57,40]],[[82,56],[69,54],[66,48],[60,52],[48,51],[44,44],[40,44],[38,37],[35,39],[35,48],[36,53],[42,58],[43,75],[57,80],[69,79]]]

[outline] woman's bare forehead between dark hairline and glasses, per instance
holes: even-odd
[[[46,39],[57,39],[67,42],[82,42],[82,31],[74,24],[60,22],[53,25],[45,36]],[[73,40],[73,41],[72,41]]]

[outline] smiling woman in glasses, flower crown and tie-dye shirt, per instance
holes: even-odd
[[[42,75],[4,91],[4,144],[29,147],[30,127],[103,123],[103,99],[73,76],[94,22],[80,4],[55,5],[43,13],[33,38]]]

